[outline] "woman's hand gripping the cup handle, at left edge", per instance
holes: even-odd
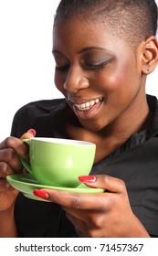
[[[8,137],[0,144],[0,213],[14,206],[18,191],[7,183],[5,177],[23,173],[19,156],[28,159],[28,146],[22,139],[35,136],[35,130],[30,129],[21,139]]]

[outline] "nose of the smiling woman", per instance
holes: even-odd
[[[68,70],[68,76],[64,82],[64,89],[66,91],[76,93],[77,91],[86,89],[89,86],[90,82],[81,69],[72,68]]]

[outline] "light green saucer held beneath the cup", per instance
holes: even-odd
[[[35,189],[50,188],[55,190],[62,190],[62,191],[68,191],[72,193],[82,193],[82,194],[96,194],[96,193],[104,192],[104,189],[102,188],[87,187],[84,184],[80,185],[79,187],[56,187],[56,186],[41,185],[41,184],[38,184],[37,180],[29,174],[6,176],[6,179],[12,187],[15,187],[17,190],[21,191],[25,197],[42,200],[42,201],[43,199],[40,199],[34,196],[33,191]],[[44,201],[47,201],[47,200],[44,200]]]

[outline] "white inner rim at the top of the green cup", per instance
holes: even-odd
[[[87,142],[87,141],[79,141],[79,140],[71,140],[71,139],[64,139],[64,138],[50,138],[50,137],[33,137],[30,138],[32,141],[40,141],[40,142],[47,142],[47,143],[55,143],[55,144],[70,144],[70,145],[86,145],[86,146],[94,146],[96,144]]]

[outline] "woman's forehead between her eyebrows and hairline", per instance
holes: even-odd
[[[114,28],[113,28],[114,29]],[[83,47],[98,46],[100,48],[129,48],[129,44],[113,35],[111,28],[100,19],[92,20],[79,16],[60,20],[53,28],[53,48],[68,51],[68,48],[79,50]]]

